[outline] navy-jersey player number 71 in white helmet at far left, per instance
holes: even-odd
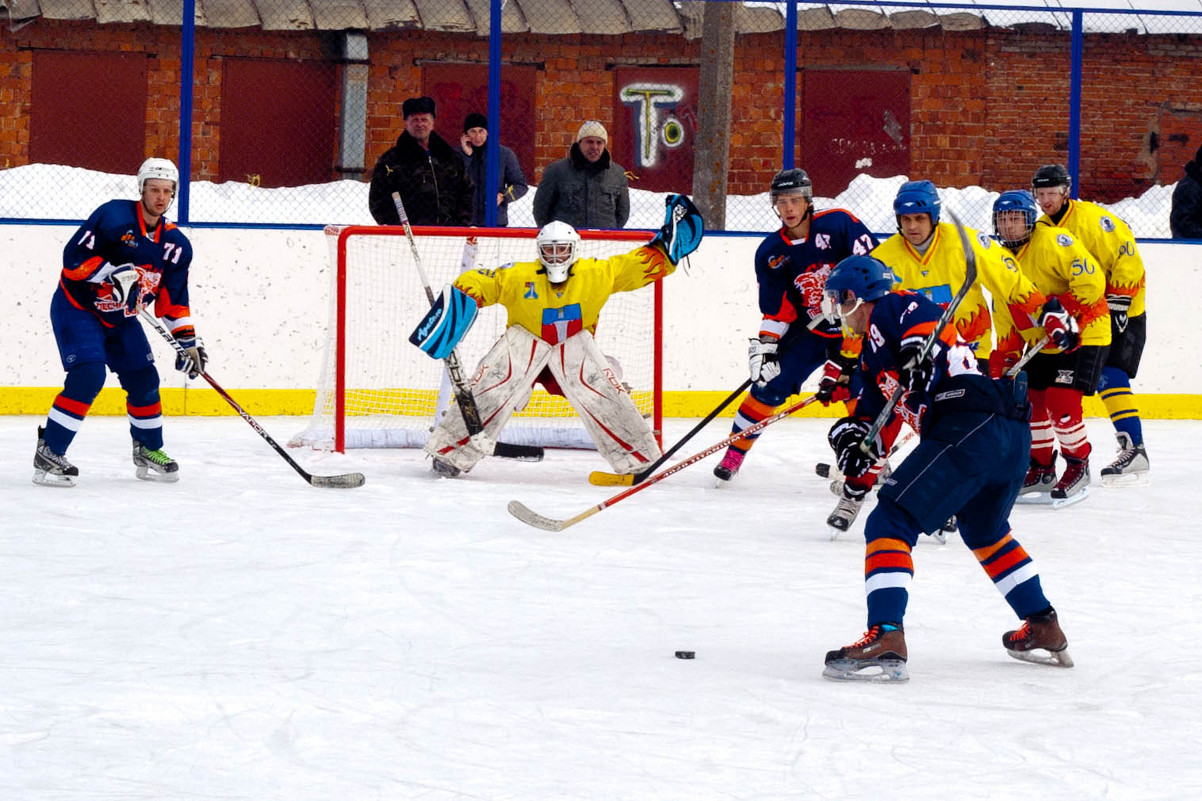
[[[207,355],[188,299],[192,245],[163,216],[179,185],[175,165],[147,159],[137,182],[138,200],[108,201],[63,250],[50,324],[67,375],[46,426],[37,429],[35,483],[75,486],[79,470],[66,459],[67,447],[105,386],[106,368],[125,390],[135,474],[151,481],[179,479],[179,465],[162,450],[159,372],[138,312],[153,302],[155,315],[186,351],[175,369],[190,378],[204,370]]]

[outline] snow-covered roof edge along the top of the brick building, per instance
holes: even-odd
[[[183,0],[0,0],[0,17],[7,16],[13,28],[38,17],[179,25],[183,8]],[[487,36],[488,8],[489,0],[196,0],[196,24],[263,30],[424,29]],[[662,31],[697,38],[702,10],[702,0],[506,0],[501,28],[506,34]],[[1088,12],[1087,32],[1202,32],[1202,0],[799,2],[797,28],[975,30],[1035,24],[1067,30],[1073,10]],[[740,2],[736,24],[743,34],[783,30],[785,4]]]

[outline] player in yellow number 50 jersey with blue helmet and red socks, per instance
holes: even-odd
[[[1035,221],[1039,210],[1027,190],[1002,192],[993,204],[998,239],[1013,251],[1023,272],[1048,296],[1043,333],[1049,344],[1027,366],[1031,404],[1031,465],[1023,494],[1048,492],[1064,502],[1089,485],[1091,451],[1081,399],[1093,394],[1111,344],[1106,275],[1071,233]],[[1055,479],[1054,443],[1065,469]],[[1083,497],[1083,496],[1082,496]]]

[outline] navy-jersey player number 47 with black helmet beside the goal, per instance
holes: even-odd
[[[817,393],[823,404],[849,398],[859,380],[855,357],[841,352],[839,324],[822,314],[822,289],[832,267],[846,256],[867,254],[876,239],[841,208],[815,212],[814,186],[804,170],[778,172],[769,198],[781,227],[755,254],[763,320],[749,349],[751,390],[734,415],[732,434],[772,416],[819,367],[825,366]],[[736,440],[714,475],[730,481],[758,437]]]

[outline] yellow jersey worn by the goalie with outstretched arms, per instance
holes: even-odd
[[[518,261],[498,269],[474,269],[454,285],[481,307],[500,303],[508,326],[522,326],[535,337],[558,345],[579,331],[596,332],[597,316],[614,292],[629,292],[676,271],[667,254],[643,245],[609,259],[579,259],[555,291],[537,261]]]

